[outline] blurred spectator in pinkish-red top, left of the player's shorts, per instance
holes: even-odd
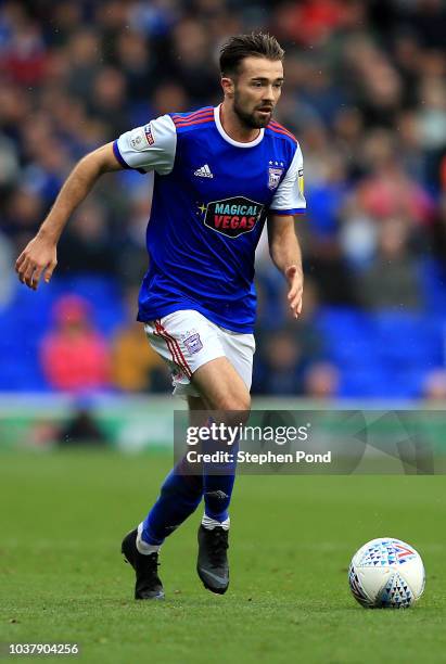
[[[51,387],[88,392],[110,386],[110,354],[94,329],[88,303],[65,295],[54,306],[55,329],[41,344],[41,363]]]

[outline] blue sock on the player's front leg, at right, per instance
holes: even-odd
[[[233,459],[237,459],[238,449],[238,445],[232,447]],[[219,463],[218,472],[221,474],[218,475],[206,472],[206,467],[211,467],[215,472],[216,464],[205,464],[203,472],[204,513],[221,523],[229,515],[228,508],[235,482],[237,462]]]

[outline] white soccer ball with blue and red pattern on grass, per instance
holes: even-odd
[[[393,537],[368,541],[353,557],[348,584],[367,609],[407,609],[424,590],[424,566],[410,545]]]

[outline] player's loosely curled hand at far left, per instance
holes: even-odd
[[[15,271],[22,283],[37,291],[41,276],[48,283],[58,265],[56,244],[37,234],[15,261]]]

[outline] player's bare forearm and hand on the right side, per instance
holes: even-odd
[[[301,245],[292,215],[275,215],[273,213],[269,215],[268,243],[273,264],[288,281],[289,306],[294,318],[297,318],[302,311],[304,272]]]

